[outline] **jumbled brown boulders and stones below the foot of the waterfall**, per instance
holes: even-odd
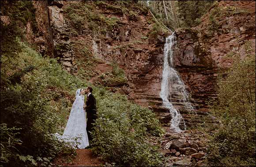
[[[207,153],[206,137],[202,132],[175,133],[165,127],[159,152],[168,158],[166,166],[203,166]]]

